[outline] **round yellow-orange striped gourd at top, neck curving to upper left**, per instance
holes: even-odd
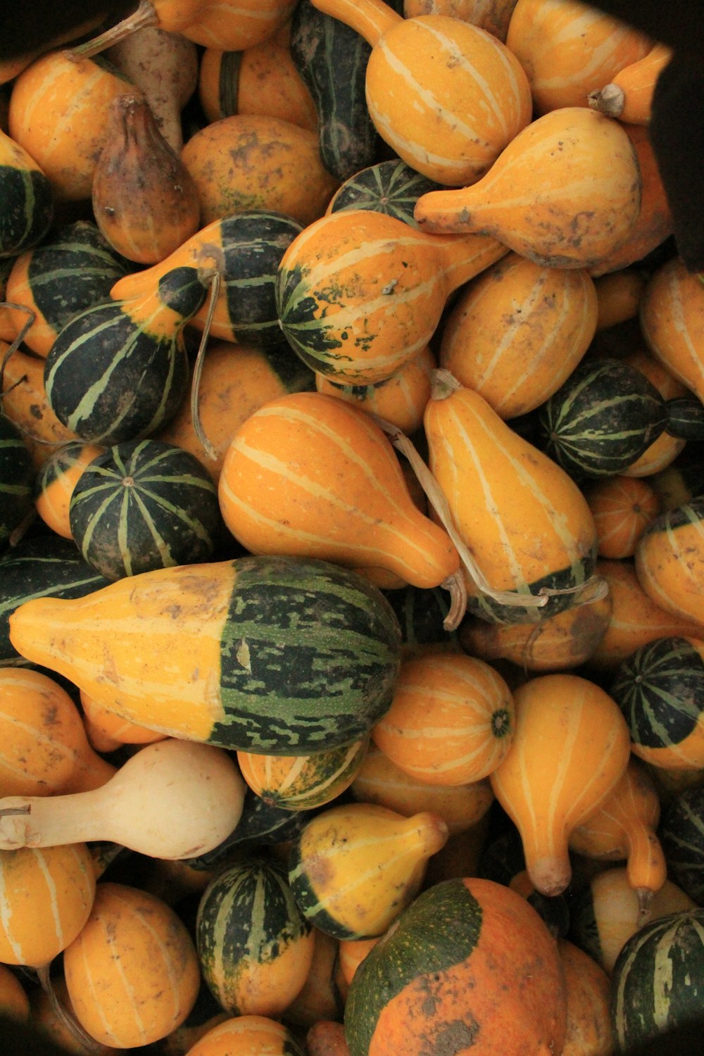
[[[382,0],[313,0],[372,45],[365,93],[382,139],[436,183],[478,180],[531,119],[528,78],[496,37],[446,15],[402,18]]]

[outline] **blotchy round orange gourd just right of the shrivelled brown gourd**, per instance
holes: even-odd
[[[203,225],[271,209],[305,226],[323,215],[339,186],[320,159],[316,132],[266,114],[206,125],[180,157],[197,189]]]

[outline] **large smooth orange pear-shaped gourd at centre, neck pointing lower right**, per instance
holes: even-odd
[[[251,553],[388,569],[439,586],[459,567],[418,510],[396,452],[367,414],[322,393],[270,400],[240,427],[217,488],[225,524]]]

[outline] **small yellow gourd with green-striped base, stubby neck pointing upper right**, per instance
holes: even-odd
[[[439,814],[411,817],[375,804],[328,807],[291,847],[288,881],[303,914],[337,939],[382,935],[420,890],[446,843]]]

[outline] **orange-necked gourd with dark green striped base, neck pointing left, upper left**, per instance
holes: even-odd
[[[221,272],[220,293],[210,323],[210,336],[243,344],[281,342],[274,282],[284,250],[301,231],[301,224],[280,212],[251,210],[213,221],[159,264],[118,280],[111,297],[149,294],[176,267],[214,264]],[[209,305],[191,319],[205,326]]]

